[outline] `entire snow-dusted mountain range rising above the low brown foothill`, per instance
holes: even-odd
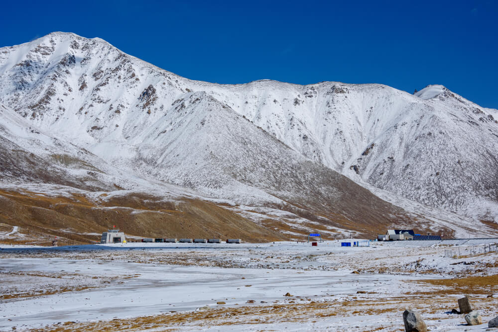
[[[4,187],[195,198],[287,234],[492,231],[496,119],[440,85],[197,82],[61,32],[0,49]]]

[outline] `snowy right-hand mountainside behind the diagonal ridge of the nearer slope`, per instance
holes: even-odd
[[[367,186],[498,221],[496,109],[441,85],[417,95],[379,84],[331,82],[261,81],[209,91],[242,101],[232,107],[256,125]]]

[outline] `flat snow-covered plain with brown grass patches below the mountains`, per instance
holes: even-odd
[[[0,330],[400,331],[411,308],[431,331],[484,331],[489,242],[2,246]],[[463,295],[485,324],[450,314]]]

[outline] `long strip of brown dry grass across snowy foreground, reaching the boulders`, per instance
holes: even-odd
[[[74,323],[67,322],[63,326],[45,327],[35,332],[69,332],[69,331],[143,331],[147,329],[174,329],[175,326],[206,327],[257,325],[283,322],[313,322],[331,317],[351,317],[401,313],[404,308],[413,308],[424,313],[444,313],[456,305],[455,298],[432,298],[428,295],[404,295],[390,298],[326,300],[305,303],[282,303],[273,305],[249,305],[238,307],[213,308],[205,311],[168,313],[156,316],[137,317],[131,319],[114,319],[112,321]],[[293,301],[292,301],[293,302]],[[473,299],[476,307],[496,304],[496,299]],[[379,327],[373,331],[382,331]],[[372,331],[372,330],[369,330]],[[386,330],[392,331],[392,330]]]

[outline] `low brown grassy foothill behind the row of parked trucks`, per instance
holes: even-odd
[[[36,192],[0,189],[0,222],[22,227],[23,239],[3,243],[59,246],[96,243],[114,225],[128,235],[153,238],[240,238],[248,242],[287,240],[247,218],[212,202],[199,199],[163,201],[146,194],[127,194],[92,201],[83,195],[53,197]],[[29,234],[31,233],[31,234]],[[37,242],[36,242],[37,241]]]

